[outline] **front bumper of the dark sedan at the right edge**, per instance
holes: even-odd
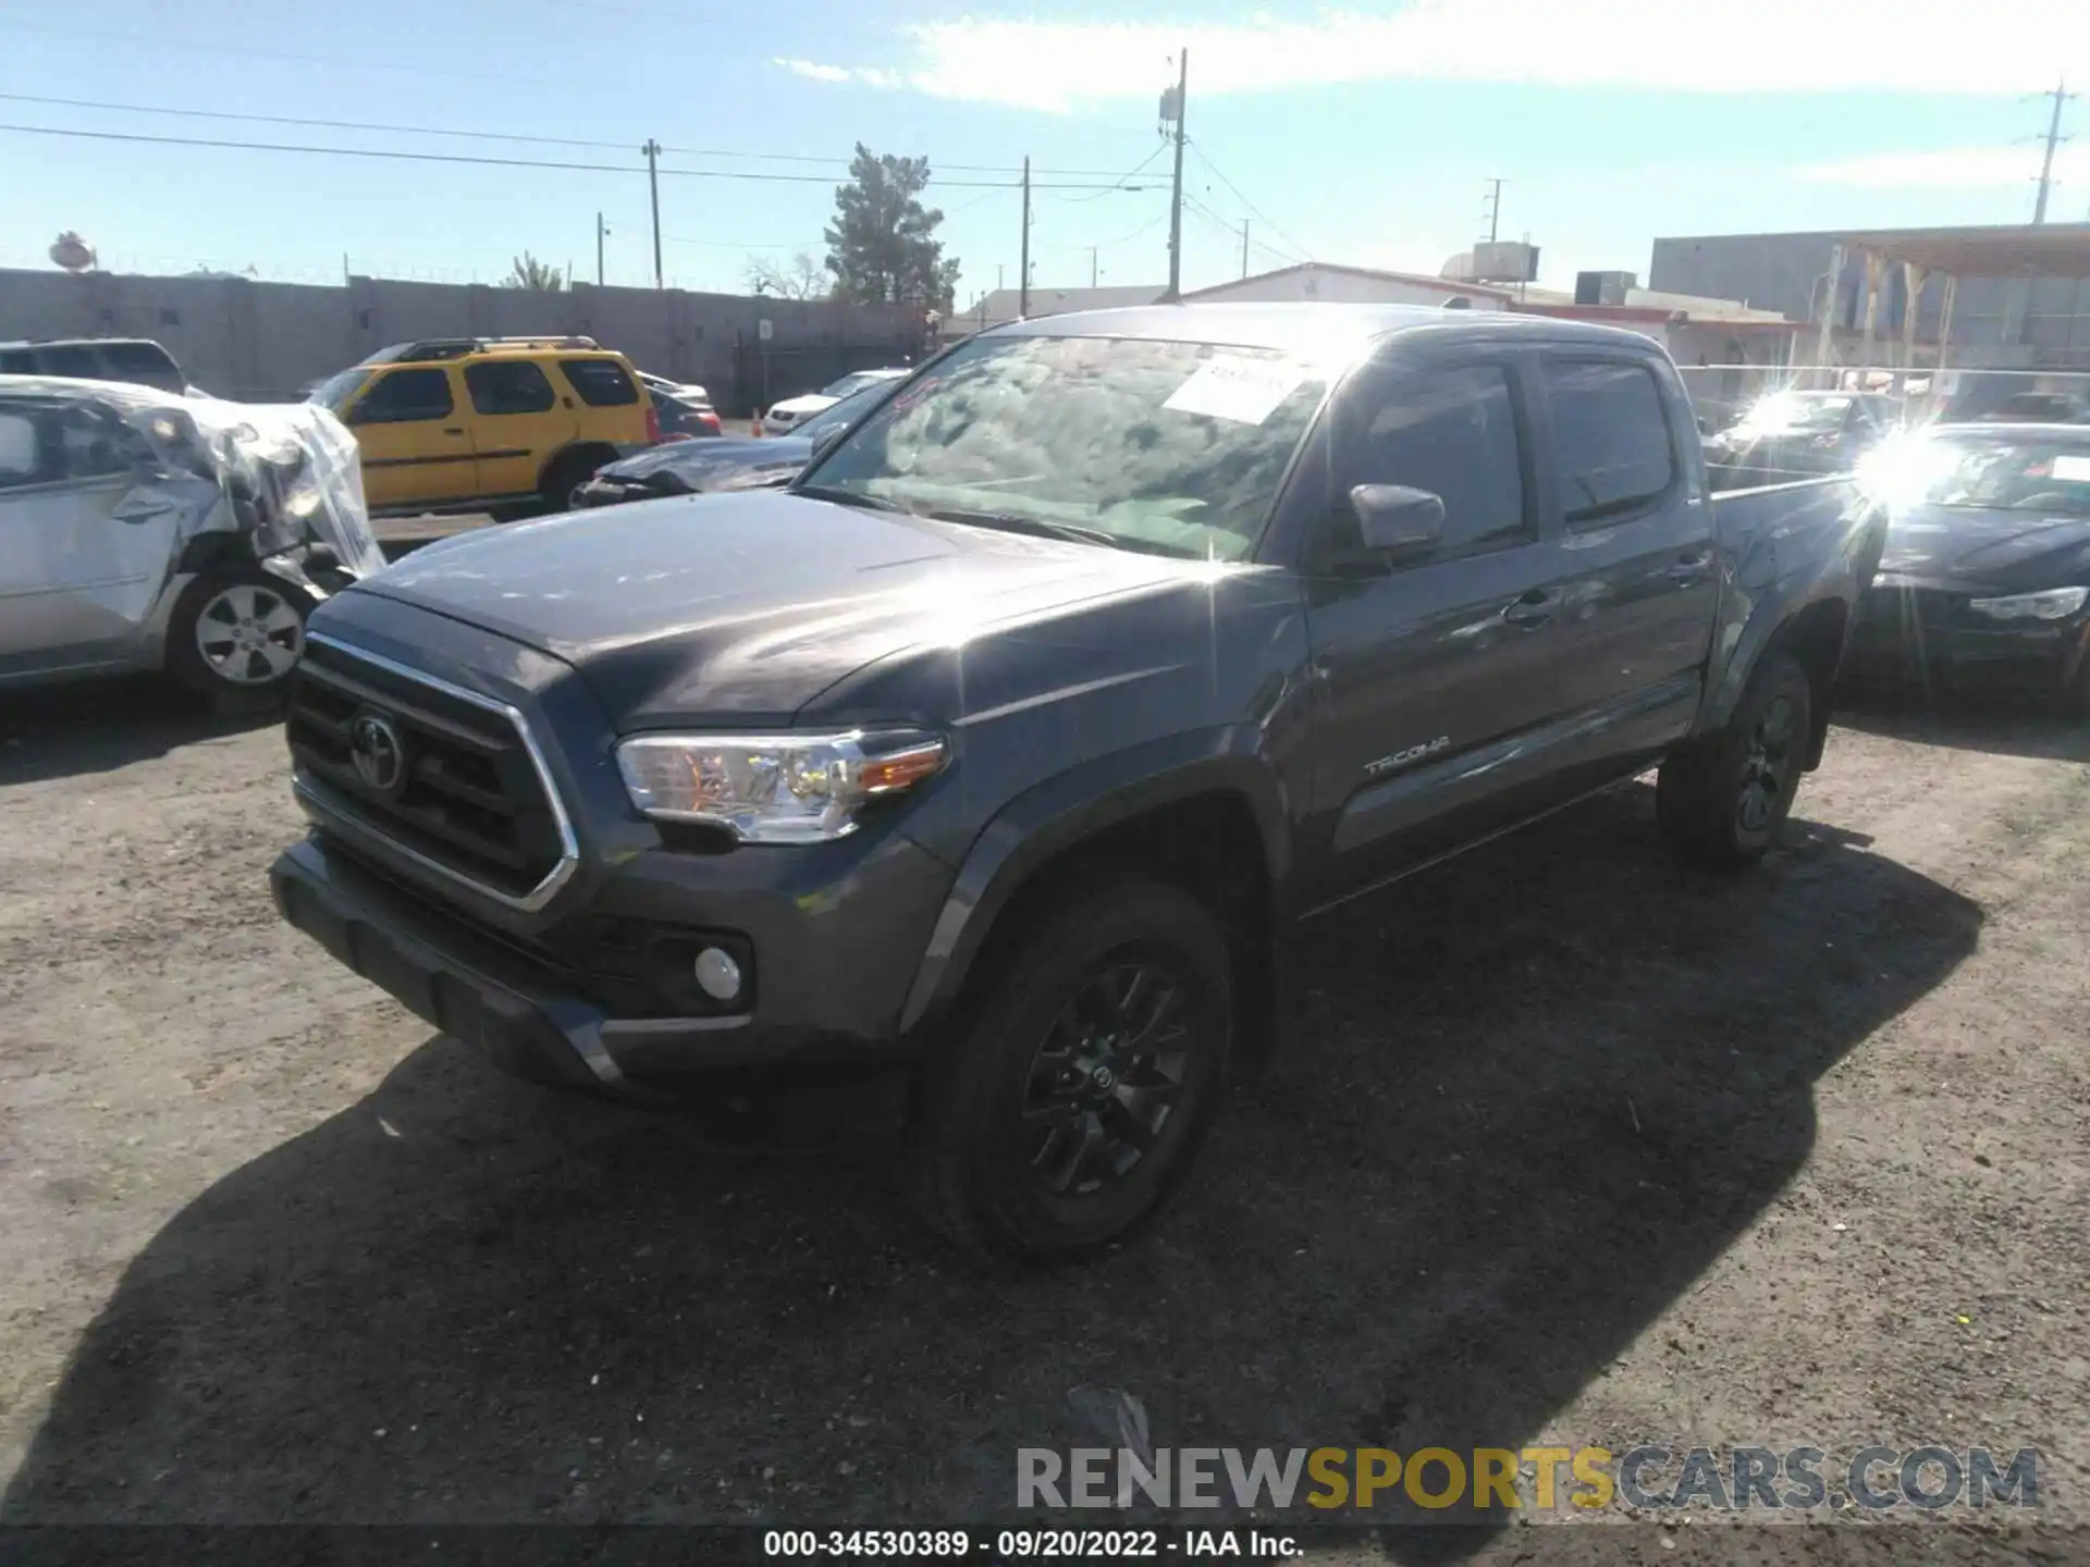
[[[1921,681],[1937,692],[2052,696],[2077,679],[2090,614],[2065,621],[1988,621],[1973,593],[1917,583],[1875,583],[1858,604],[1848,679]]]

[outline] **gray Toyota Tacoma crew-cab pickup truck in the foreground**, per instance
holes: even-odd
[[[1881,545],[1843,481],[1714,497],[1630,332],[1022,322],[788,491],[322,606],[274,892],[539,1080],[905,1063],[926,1214],[1068,1258],[1285,1049],[1300,921],[1655,765],[1687,861],[1760,857]]]

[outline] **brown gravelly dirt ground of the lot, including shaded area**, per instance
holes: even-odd
[[[278,926],[282,773],[148,685],[0,708],[8,1521],[984,1517],[1078,1383],[1158,1446],[2034,1444],[2090,1521],[2082,727],[1860,715],[1741,882],[1634,788],[1352,905],[1181,1206],[1028,1283],[878,1118],[431,1036]]]

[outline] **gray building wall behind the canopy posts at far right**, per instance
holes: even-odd
[[[1649,286],[1741,299],[1795,322],[1812,318],[1835,234],[1710,234],[1655,240]],[[1902,270],[1889,267],[1875,338],[1902,341]],[[1837,280],[1839,328],[1864,324],[1864,265],[1852,255]],[[1917,307],[1919,343],[1935,343],[1944,282],[1931,278]],[[1808,345],[1806,351],[1812,351]],[[2090,368],[2090,280],[1960,278],[1952,309],[1954,364]],[[1877,355],[1885,364],[1885,349]]]

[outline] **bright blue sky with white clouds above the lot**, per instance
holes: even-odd
[[[1645,278],[1655,234],[2004,224],[2031,211],[2048,104],[2090,86],[2082,0],[1356,0],[1342,10],[949,6],[859,0],[349,0],[182,6],[25,0],[0,15],[0,92],[387,121],[481,138],[186,119],[0,100],[0,123],[614,165],[510,169],[0,132],[0,265],[79,230],[121,272],[249,265],[493,282],[533,251],[652,280],[640,144],[665,176],[671,282],[740,290],[750,253],[819,253],[855,142],[945,171],[959,303],[1016,284],[1030,155],[1039,286],[1166,276],[1156,98],[1189,46],[1185,284],[1313,255],[1436,272],[1482,228],[1542,247],[1542,280]],[[2050,219],[2090,217],[2090,104]],[[604,146],[485,140],[568,138]],[[765,155],[765,157],[750,157]],[[803,159],[803,161],[792,161]],[[957,169],[953,165],[986,165]],[[1216,173],[1214,173],[1216,171]],[[1221,178],[1223,176],[1223,178]],[[1229,184],[1231,182],[1231,188]]]

